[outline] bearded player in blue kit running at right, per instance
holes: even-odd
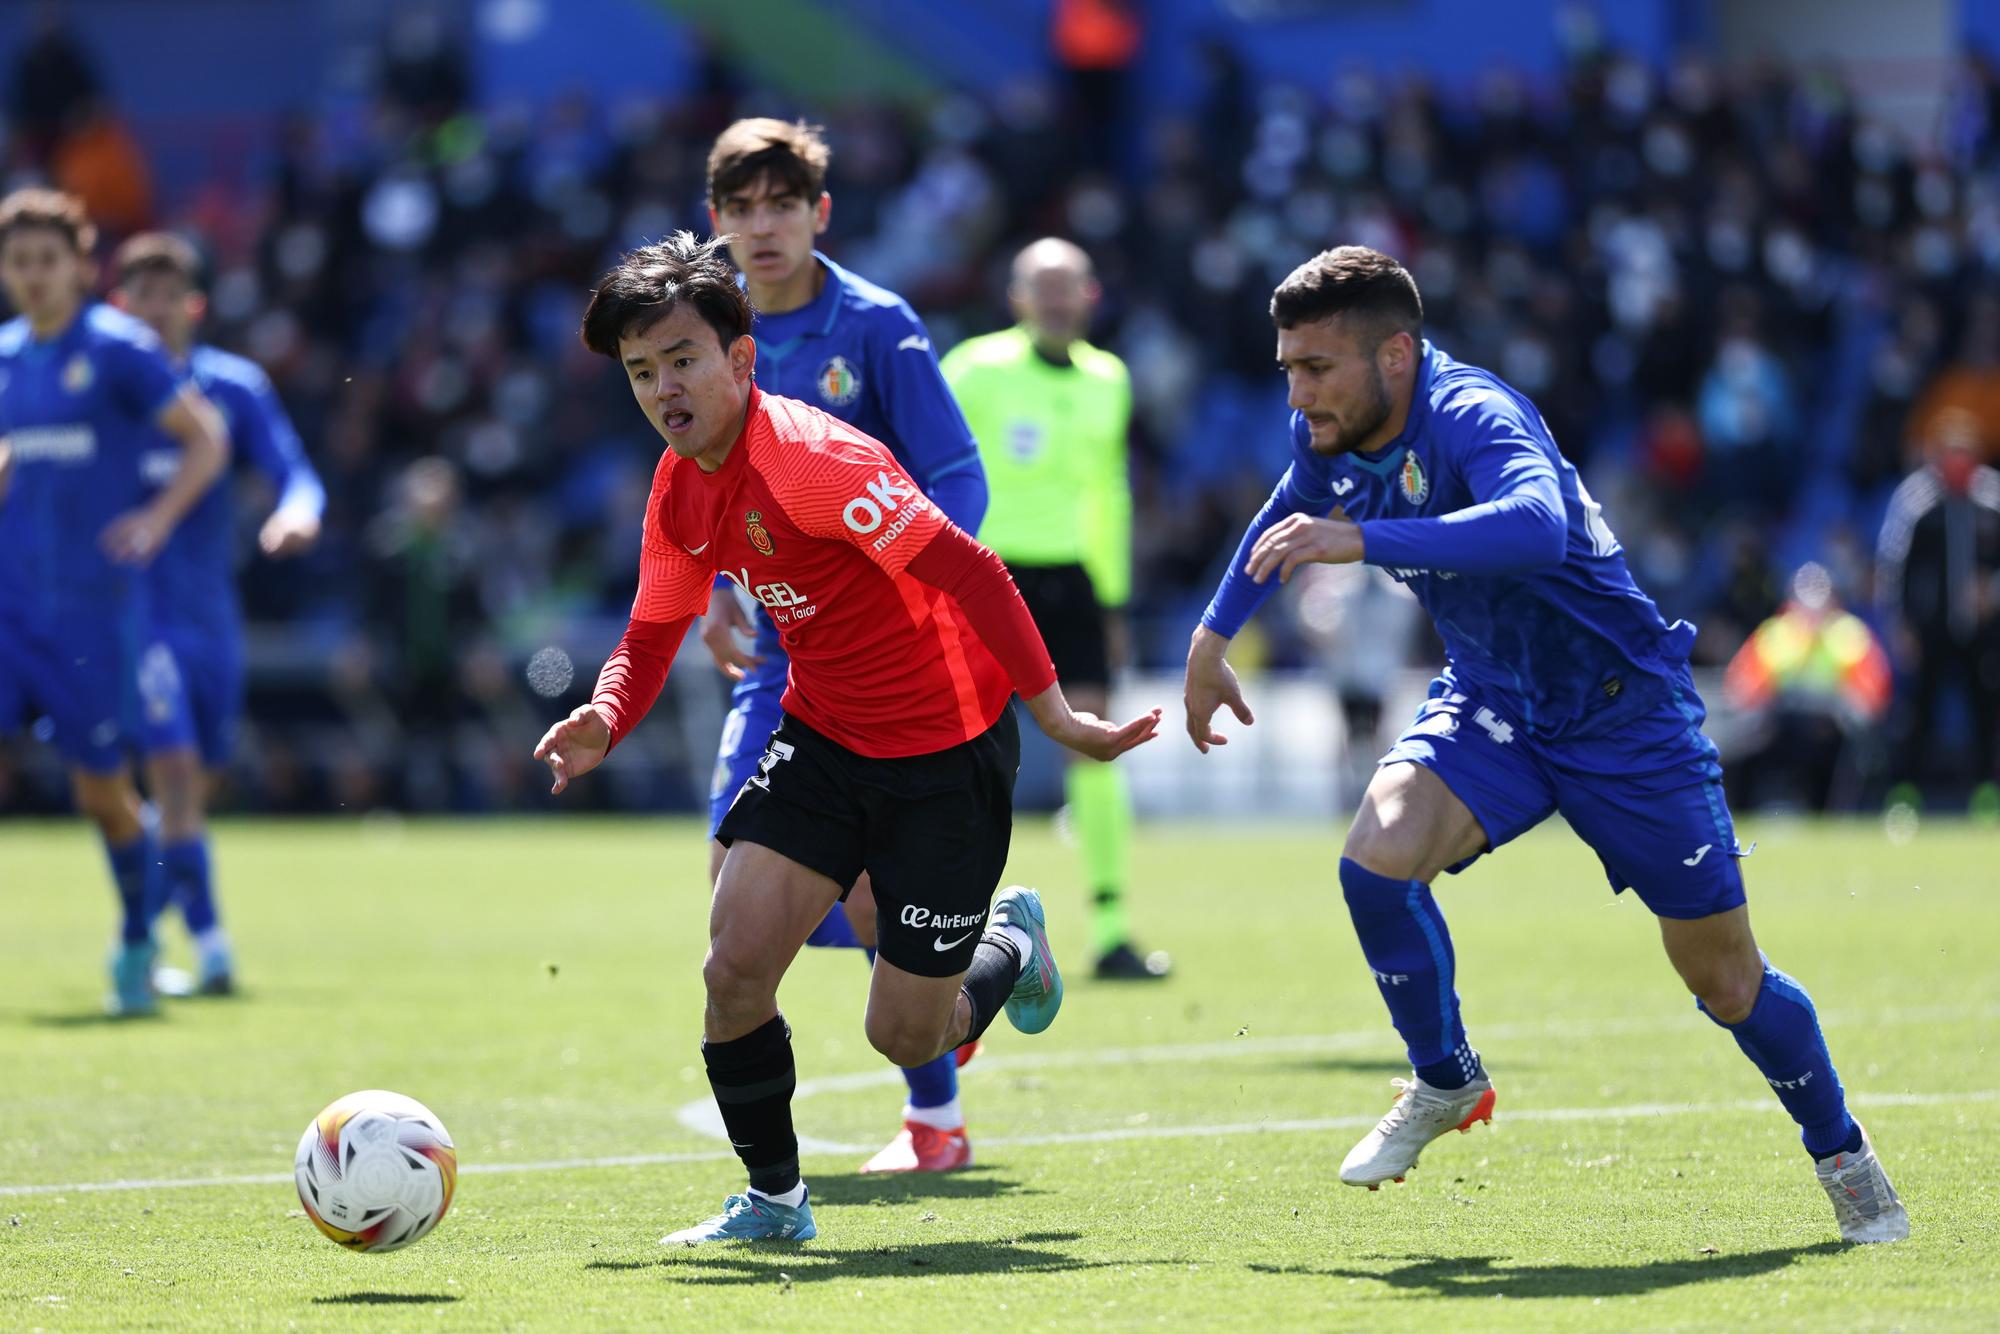
[[[1210,726],[1220,706],[1250,724],[1224,650],[1304,562],[1386,568],[1446,646],[1444,674],[1382,756],[1340,860],[1354,932],[1414,1066],[1340,1180],[1402,1180],[1430,1140],[1492,1118],[1430,882],[1560,812],[1612,890],[1636,890],[1654,912],[1702,1014],[1800,1124],[1842,1238],[1908,1236],[1848,1116],[1812,1000],[1750,934],[1744,852],[1688,676],[1694,628],[1666,624],[1632,582],[1534,404],[1422,338],[1422,300],[1396,260],[1328,250],[1278,286],[1270,312],[1292,466],[1194,632],[1188,736],[1202,752],[1222,744]]]

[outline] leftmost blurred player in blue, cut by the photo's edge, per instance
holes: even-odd
[[[0,282],[20,312],[0,326],[0,728],[30,710],[52,722],[124,908],[110,1006],[146,1014],[164,880],[128,752],[146,756],[154,786],[200,776],[146,566],[214,484],[228,444],[152,330],[86,300],[94,244],[66,194],[18,190],[0,202]],[[180,468],[154,490],[140,456],[162,446],[178,446]]]

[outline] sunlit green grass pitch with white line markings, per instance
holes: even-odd
[[[1902,1246],[1836,1244],[1770,1090],[1560,828],[1440,890],[1500,1108],[1406,1186],[1334,1180],[1402,1070],[1334,826],[1142,830],[1134,918],[1176,974],[1098,986],[1074,856],[1024,822],[1010,878],[1042,886],[1070,992],[966,1070],[978,1166],[854,1174],[900,1086],[858,956],[808,952],[784,1006],[820,1238],[664,1250],[740,1188],[682,1120],[708,1096],[692,824],[226,824],[246,994],[126,1024],[96,1018],[94,840],[0,826],[0,1328],[2000,1326],[2000,836],[1746,836]],[[428,1102],[464,1170],[388,1256],[322,1240],[290,1186],[306,1120],[370,1086]]]

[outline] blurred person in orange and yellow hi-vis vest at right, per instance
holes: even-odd
[[[1724,770],[1730,802],[1852,810],[1874,728],[1888,712],[1882,642],[1840,606],[1824,566],[1792,576],[1792,598],[1730,660],[1724,696],[1744,712]]]

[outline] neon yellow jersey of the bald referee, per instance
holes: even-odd
[[[968,338],[944,362],[986,466],[980,542],[1022,566],[1080,564],[1104,606],[1132,596],[1124,362],[1084,340],[1054,366],[1024,328]]]

